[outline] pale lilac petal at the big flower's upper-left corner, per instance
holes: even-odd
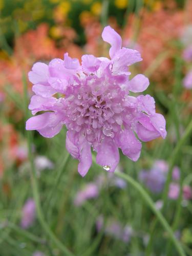
[[[49,70],[45,63],[37,62],[28,74],[30,82],[48,85]]]

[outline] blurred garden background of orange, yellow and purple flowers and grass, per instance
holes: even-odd
[[[0,255],[68,255],[37,218],[25,131],[27,78],[36,61],[68,52],[108,56],[101,39],[113,27],[123,46],[141,52],[132,73],[150,78],[145,94],[165,116],[167,137],[143,143],[135,163],[121,155],[118,170],[132,176],[192,255],[192,1],[0,0]],[[66,130],[52,139],[33,133],[33,156],[47,225],[74,255],[179,255],[138,191],[93,165],[86,177],[67,158]],[[168,196],[163,190],[173,167]],[[60,176],[58,176],[58,174]]]

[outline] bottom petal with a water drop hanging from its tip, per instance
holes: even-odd
[[[102,143],[96,148],[96,162],[109,172],[114,172],[119,163],[119,151],[115,142],[111,138],[104,138]]]

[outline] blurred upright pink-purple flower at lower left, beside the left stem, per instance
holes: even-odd
[[[20,222],[20,225],[23,228],[30,227],[34,222],[35,217],[36,217],[35,202],[33,199],[28,199],[22,209],[22,220]]]

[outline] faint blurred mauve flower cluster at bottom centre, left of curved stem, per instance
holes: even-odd
[[[101,231],[104,228],[104,233],[113,238],[122,240],[123,242],[129,242],[133,233],[132,228],[129,225],[122,227],[122,225],[115,220],[108,220],[104,226],[103,217],[100,216],[96,221],[97,231]]]

